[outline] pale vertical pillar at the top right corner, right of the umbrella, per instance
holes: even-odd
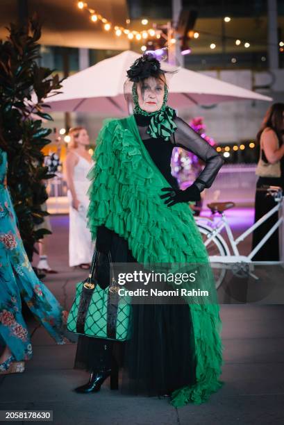
[[[278,69],[277,0],[267,0],[267,40],[269,69]]]

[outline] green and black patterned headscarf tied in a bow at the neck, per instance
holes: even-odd
[[[149,124],[149,127],[147,128],[147,133],[151,135],[151,137],[154,139],[162,137],[166,141],[169,140],[172,136],[172,133],[176,131],[177,127],[174,123],[174,117],[176,116],[176,113],[174,109],[167,106],[167,85],[165,84],[165,95],[164,100],[162,102],[162,106],[159,110],[156,110],[153,113],[147,113],[146,110],[140,108],[136,83],[133,83],[132,94],[134,103],[133,113],[141,114],[146,117],[151,117],[151,122]]]

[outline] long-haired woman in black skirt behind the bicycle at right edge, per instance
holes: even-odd
[[[284,103],[274,103],[265,115],[262,126],[256,137],[260,144],[260,161],[256,169],[259,176],[256,188],[262,185],[280,186],[284,190]],[[265,163],[263,165],[262,161]],[[274,208],[276,202],[267,192],[256,192],[255,217],[257,222],[260,217]],[[265,237],[267,232],[278,220],[278,213],[269,217],[255,231],[253,231],[253,249]],[[278,229],[265,242],[260,250],[253,256],[253,261],[278,261],[279,236]]]

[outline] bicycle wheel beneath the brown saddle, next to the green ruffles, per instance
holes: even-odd
[[[206,246],[208,256],[227,255],[224,244],[222,243],[222,240],[218,238],[218,236],[215,236],[214,238],[212,238],[212,240],[210,240],[208,244],[206,244],[208,237],[210,236],[211,230],[199,223],[197,223],[197,227],[199,228],[199,231],[201,233],[203,243]],[[215,287],[216,289],[218,289],[226,276],[226,268],[222,267],[222,263],[211,263],[211,267],[215,278]]]

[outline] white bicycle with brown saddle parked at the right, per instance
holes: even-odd
[[[262,245],[265,244],[265,242],[270,238],[272,233],[274,233],[274,231],[276,231],[276,229],[280,227],[281,224],[283,224],[283,216],[279,215],[277,222],[274,224],[274,226],[272,226],[272,228],[270,228],[269,232],[267,232],[265,235],[265,238],[263,238],[257,244],[257,246],[251,251],[251,253],[249,253],[248,256],[242,256],[237,248],[237,245],[242,242],[242,240],[247,238],[247,236],[253,232],[255,228],[258,228],[263,222],[266,222],[269,217],[280,211],[283,206],[283,190],[280,187],[263,186],[257,190],[265,191],[267,192],[267,196],[274,197],[276,206],[269,210],[268,213],[263,215],[255,224],[244,231],[244,233],[242,233],[242,235],[240,235],[237,239],[234,239],[230,224],[228,224],[228,219],[224,213],[224,211],[235,206],[234,202],[212,202],[207,204],[208,208],[210,208],[212,212],[212,215],[215,213],[221,214],[221,217],[217,223],[214,222],[214,219],[210,219],[208,217],[195,217],[197,226],[203,238],[203,243],[205,244],[208,251],[210,263],[212,263],[216,288],[219,288],[219,286],[222,284],[227,269],[231,269],[233,274],[238,277],[250,275],[253,278],[258,279],[258,276],[252,273],[254,265],[283,265],[283,262],[281,261],[253,262],[251,260],[251,258],[253,258],[253,256],[260,250]],[[228,247],[226,240],[224,240],[223,236],[220,234],[223,229],[226,230],[233,253],[231,253],[231,249]]]

